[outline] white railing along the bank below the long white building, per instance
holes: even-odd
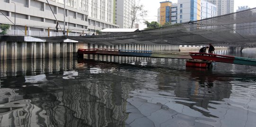
[[[0,30],[0,32],[2,32]],[[55,36],[63,36],[63,32],[41,32],[41,31],[24,31],[24,30],[8,30],[6,35],[18,35],[18,36],[41,36],[41,37],[55,37]],[[49,34],[49,35],[48,35]],[[67,35],[67,33],[65,34]],[[68,33],[68,36],[80,36],[82,33]],[[86,33],[84,33],[84,36]]]

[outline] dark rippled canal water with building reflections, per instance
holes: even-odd
[[[256,58],[255,49],[216,54]],[[121,56],[0,61],[0,127],[256,127],[256,67]]]

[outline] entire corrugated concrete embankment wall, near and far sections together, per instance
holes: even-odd
[[[179,45],[120,44],[105,46],[80,43],[74,40],[65,40],[65,42],[45,42],[45,40],[25,37],[24,41],[1,41],[0,60],[74,57],[77,56],[79,48],[112,48],[170,52],[178,52],[180,50]]]

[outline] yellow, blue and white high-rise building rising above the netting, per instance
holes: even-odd
[[[163,25],[201,20],[216,16],[216,6],[205,0],[178,0],[160,2],[158,22]]]

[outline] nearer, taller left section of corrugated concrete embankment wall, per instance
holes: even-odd
[[[0,42],[0,60],[59,58],[76,56],[78,48],[86,43],[72,42]]]

